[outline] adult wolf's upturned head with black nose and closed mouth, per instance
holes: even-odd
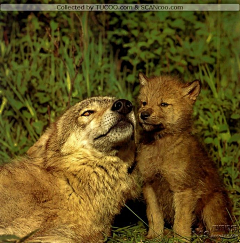
[[[135,123],[130,101],[89,98],[53,123],[28,150],[28,155],[39,157],[45,152],[66,155],[83,148],[111,154],[134,142]]]

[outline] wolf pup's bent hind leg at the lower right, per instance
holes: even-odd
[[[228,199],[222,193],[214,193],[203,208],[203,220],[211,237],[229,233],[231,220],[228,212]]]

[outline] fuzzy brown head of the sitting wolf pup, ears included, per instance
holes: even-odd
[[[147,78],[139,74],[139,122],[145,131],[177,133],[191,127],[192,108],[200,82],[183,83],[176,77]]]

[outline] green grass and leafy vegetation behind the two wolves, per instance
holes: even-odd
[[[30,2],[67,3],[21,1]],[[219,167],[238,224],[239,12],[1,12],[0,38],[0,163],[23,155],[69,105],[86,97],[111,95],[137,105],[139,72],[199,79],[195,132]],[[145,232],[142,223],[115,230],[109,242],[136,242]]]

